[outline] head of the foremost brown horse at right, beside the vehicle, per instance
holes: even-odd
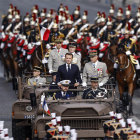
[[[128,58],[127,58],[125,52],[123,52],[123,51],[119,52],[119,54],[117,55],[117,59],[118,59],[119,69],[125,70],[125,68],[127,66],[127,62],[128,62]]]

